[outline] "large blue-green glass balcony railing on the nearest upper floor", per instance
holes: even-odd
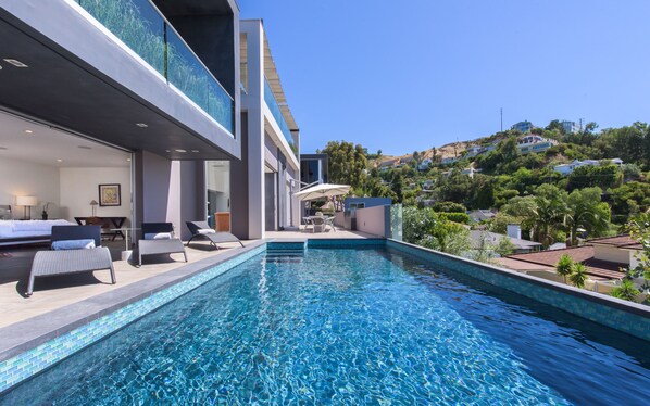
[[[234,134],[235,101],[150,0],[75,1]]]

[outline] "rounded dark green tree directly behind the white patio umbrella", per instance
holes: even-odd
[[[329,141],[323,153],[329,160],[329,180],[333,183],[350,185],[354,189],[363,186],[367,166],[363,147],[346,141]]]

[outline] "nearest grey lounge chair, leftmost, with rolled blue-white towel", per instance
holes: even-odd
[[[51,246],[52,251],[38,251],[34,256],[27,296],[34,293],[34,279],[38,277],[109,269],[111,283],[116,283],[111,252],[101,246],[99,226],[52,226]]]

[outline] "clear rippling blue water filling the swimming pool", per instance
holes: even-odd
[[[647,404],[648,343],[391,250],[261,254],[1,404]]]

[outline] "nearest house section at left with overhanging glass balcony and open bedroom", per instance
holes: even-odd
[[[228,208],[208,180],[242,156],[235,0],[2,1],[0,36],[2,204],[185,236]]]

